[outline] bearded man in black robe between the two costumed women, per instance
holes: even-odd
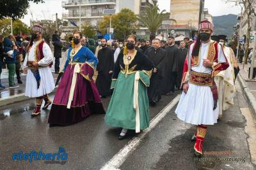
[[[97,65],[98,76],[96,85],[100,96],[108,97],[111,95],[111,77],[114,67],[114,53],[112,48],[107,46],[106,39],[101,39],[102,49],[98,52],[99,64]]]

